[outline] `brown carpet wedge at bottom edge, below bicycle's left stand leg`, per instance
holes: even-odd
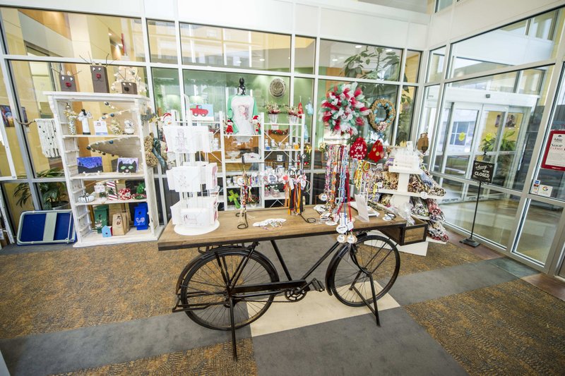
[[[251,338],[237,341],[237,361],[232,359],[232,343],[225,342],[167,353],[131,362],[103,365],[59,375],[257,375]]]

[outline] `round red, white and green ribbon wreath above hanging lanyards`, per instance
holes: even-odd
[[[364,116],[371,111],[365,107],[364,98],[357,83],[335,85],[321,103],[323,125],[329,126],[332,133],[357,134],[355,126],[364,125]]]

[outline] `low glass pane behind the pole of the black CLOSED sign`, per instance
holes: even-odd
[[[444,200],[441,201],[446,222],[471,231],[478,187],[447,178],[443,179],[441,186],[446,190]],[[477,207],[475,234],[506,247],[519,202],[518,196],[506,195],[483,186]]]

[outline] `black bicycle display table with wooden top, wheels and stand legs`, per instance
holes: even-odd
[[[306,209],[305,217],[316,214],[311,207]],[[286,222],[272,230],[255,226],[238,229],[239,219],[233,212],[220,212],[220,227],[196,236],[175,233],[169,222],[157,242],[159,250],[206,248],[179,275],[173,312],[184,311],[203,327],[230,330],[236,359],[235,329],[261,317],[272,303],[276,303],[273,300],[279,294],[292,302],[302,300],[308,291],[327,291],[345,305],[366,305],[374,313],[376,325],[380,326],[377,301],[396,281],[400,256],[393,241],[385,236],[371,235],[369,231],[403,228],[403,219],[385,221],[381,217],[371,217],[369,222],[357,220],[356,243],[335,242],[303,277],[293,279],[275,241],[335,234],[334,226],[289,215],[287,208],[251,210],[249,217],[253,217],[254,222],[269,218],[284,218]],[[273,245],[286,279],[281,280],[273,262],[256,250],[261,241]],[[309,279],[331,254],[325,281]]]

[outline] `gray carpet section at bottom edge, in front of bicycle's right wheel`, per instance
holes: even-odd
[[[466,375],[403,308],[381,324],[362,315],[254,337],[258,375]]]

